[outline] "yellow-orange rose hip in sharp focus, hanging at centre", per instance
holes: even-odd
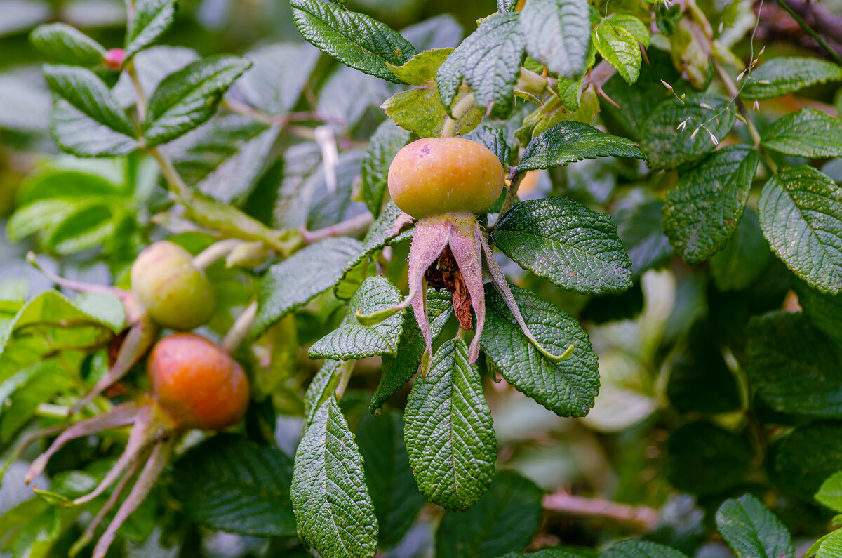
[[[503,191],[497,156],[462,137],[424,137],[402,148],[389,167],[389,194],[420,219],[448,212],[488,211]]]

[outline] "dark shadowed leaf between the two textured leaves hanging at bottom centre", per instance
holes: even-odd
[[[365,415],[357,427],[357,442],[365,460],[365,481],[380,526],[380,547],[397,545],[424,507],[409,467],[403,443],[402,416],[389,410],[382,416]]]

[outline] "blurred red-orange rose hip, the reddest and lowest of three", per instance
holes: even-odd
[[[152,395],[179,428],[221,430],[248,408],[248,378],[212,341],[177,333],[158,341],[147,362]]]

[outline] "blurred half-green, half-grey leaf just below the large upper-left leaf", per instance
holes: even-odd
[[[167,151],[184,182],[216,200],[239,205],[257,184],[279,132],[279,127],[248,116],[217,116]]]

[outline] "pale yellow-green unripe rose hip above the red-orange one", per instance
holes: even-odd
[[[131,266],[131,290],[158,324],[173,330],[192,330],[210,319],[216,304],[205,271],[193,256],[166,240],[137,256]]]

